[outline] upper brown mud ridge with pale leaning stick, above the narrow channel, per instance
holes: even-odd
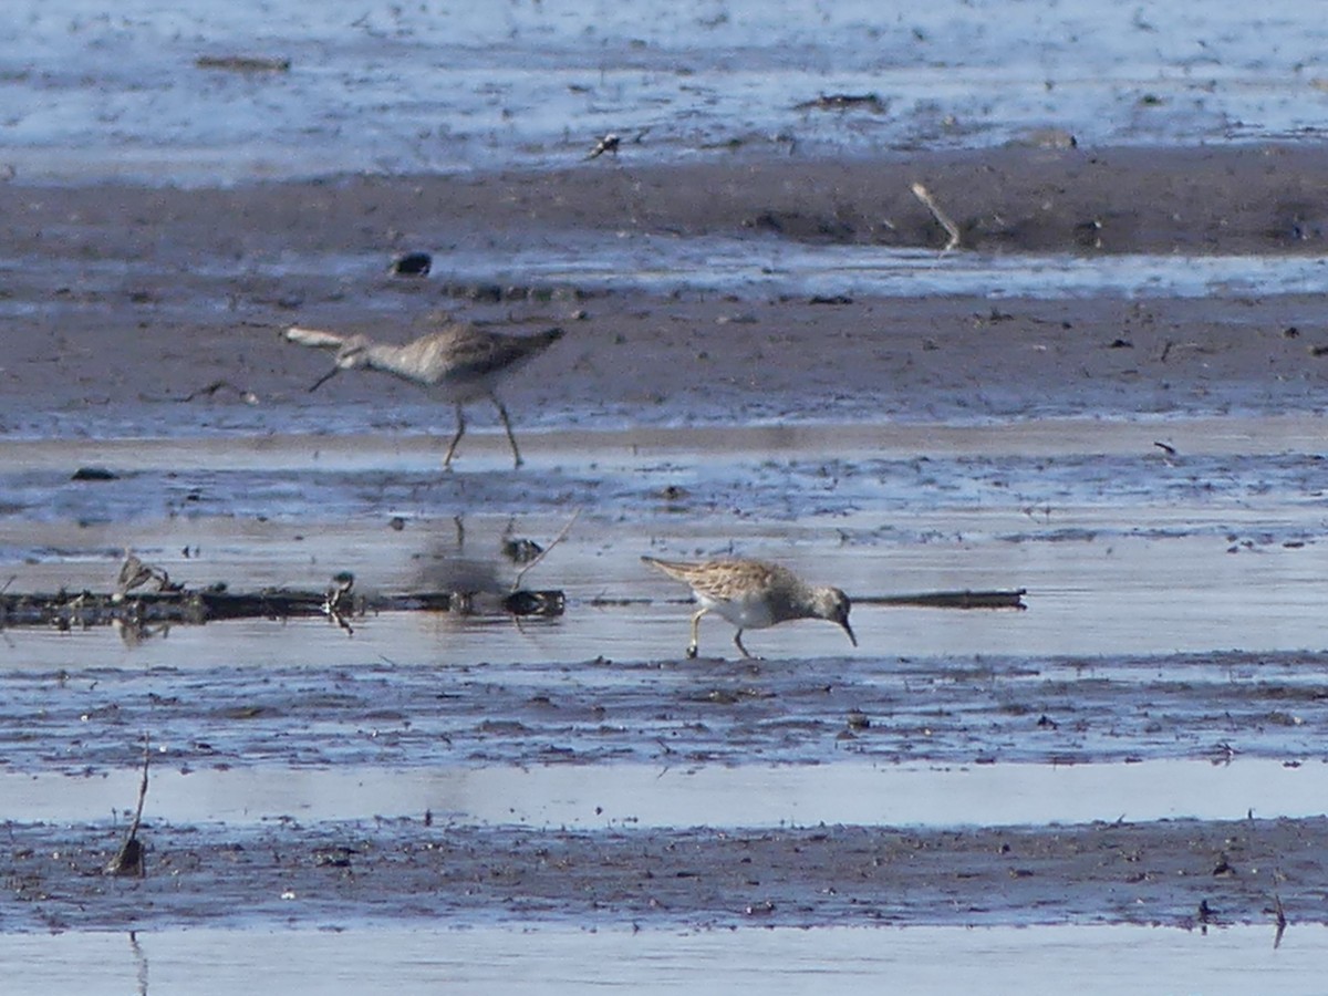
[[[766,235],[942,248],[923,183],[964,248],[1319,254],[1328,166],[1313,145],[1004,147],[481,174],[327,177],[235,187],[0,186],[11,251],[50,259],[440,250],[547,230]],[[705,191],[705,197],[696,197]],[[101,240],[96,234],[102,231]],[[98,242],[101,244],[98,244]],[[424,244],[421,244],[424,243]]]

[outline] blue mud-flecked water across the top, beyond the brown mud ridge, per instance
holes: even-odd
[[[80,182],[563,165],[607,131],[633,159],[981,146],[1049,127],[1088,145],[1313,137],[1328,41],[1309,7],[1234,0],[9,12],[4,159],[21,179]],[[201,69],[202,54],[291,68]],[[834,93],[880,105],[798,106]]]

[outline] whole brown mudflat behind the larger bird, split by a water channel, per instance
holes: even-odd
[[[551,236],[575,244],[618,232],[932,246],[939,228],[908,193],[915,175],[938,197],[963,191],[951,210],[979,251],[1289,259],[1323,250],[1305,191],[1325,182],[1324,166],[1307,149],[995,150],[640,174],[590,166],[234,190],[5,185],[0,429],[25,438],[444,433],[450,413],[388,378],[343,377],[308,394],[325,357],[279,340],[300,321],[400,341],[442,317],[568,328],[538,372],[505,390],[518,424],[537,428],[1321,410],[1328,333],[1309,292],[821,299],[587,290],[575,275],[458,283],[446,259],[424,279],[386,274],[406,248],[466,266],[471,250],[497,260]],[[1081,244],[1085,218],[1139,212],[1138,191],[1163,182],[1183,205],[1150,198],[1147,220],[1108,223],[1101,246]],[[713,193],[704,211],[696,189]],[[606,211],[615,197],[641,206]],[[826,231],[757,223],[793,205]],[[834,212],[842,231],[826,220]],[[1004,234],[981,234],[996,216]],[[475,418],[487,426],[493,414],[478,406]]]

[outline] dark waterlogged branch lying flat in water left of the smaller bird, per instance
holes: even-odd
[[[329,612],[329,606],[333,612]],[[340,591],[264,588],[234,592],[223,588],[193,591],[145,591],[129,598],[109,592],[23,594],[0,592],[0,629],[46,627],[82,629],[125,623],[134,627],[162,623],[201,625],[222,619],[301,619],[352,616],[377,612],[465,612],[477,615],[560,616],[566,610],[562,591],[518,590],[511,592],[418,591],[360,595],[353,607]]]

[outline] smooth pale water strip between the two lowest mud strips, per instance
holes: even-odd
[[[376,732],[374,732],[376,733]],[[365,730],[365,736],[369,734]],[[386,737],[385,737],[386,738]],[[259,752],[251,754],[260,758]],[[558,758],[554,758],[558,761]],[[138,772],[86,778],[0,774],[5,815],[90,822],[134,798]],[[421,818],[441,825],[608,827],[947,827],[1313,817],[1324,813],[1328,765],[1280,760],[1138,764],[865,764],[725,768],[657,765],[388,766],[159,770],[154,817],[239,826],[272,819]]]

